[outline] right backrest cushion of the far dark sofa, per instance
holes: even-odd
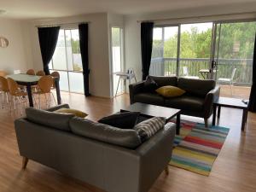
[[[177,81],[177,87],[195,96],[206,96],[210,90],[214,89],[215,85],[214,80],[179,78]]]

